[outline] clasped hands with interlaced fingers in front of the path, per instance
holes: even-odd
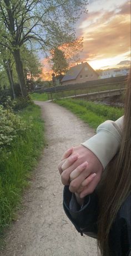
[[[94,191],[100,181],[103,167],[92,151],[80,145],[66,151],[58,169],[62,183],[69,184],[71,192],[79,192],[80,197],[84,197]],[[89,175],[94,173],[96,175],[91,176],[93,179],[89,182]]]

